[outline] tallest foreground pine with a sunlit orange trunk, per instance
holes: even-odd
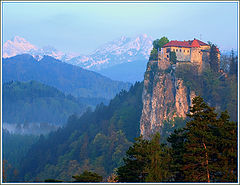
[[[193,99],[193,107],[188,114],[191,121],[187,122],[186,153],[183,156],[185,180],[188,182],[210,182],[215,140],[210,125],[215,124],[217,114],[201,97]]]

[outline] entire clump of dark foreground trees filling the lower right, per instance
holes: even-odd
[[[195,97],[186,126],[169,136],[169,146],[159,133],[136,139],[117,169],[118,181],[237,182],[237,123],[229,119]]]

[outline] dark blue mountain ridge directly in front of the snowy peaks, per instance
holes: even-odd
[[[111,99],[130,83],[113,81],[96,72],[61,62],[50,56],[41,60],[23,54],[3,59],[2,81],[39,81],[75,97]]]

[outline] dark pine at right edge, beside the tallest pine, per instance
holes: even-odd
[[[229,120],[227,111],[216,122],[217,156],[215,179],[217,182],[237,182],[237,123]]]

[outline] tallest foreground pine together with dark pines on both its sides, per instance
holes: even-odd
[[[186,182],[236,182],[237,124],[229,121],[227,112],[218,118],[215,109],[201,97],[194,98],[188,117],[191,120],[186,127],[169,138],[175,178]],[[181,172],[184,175],[179,179]]]

